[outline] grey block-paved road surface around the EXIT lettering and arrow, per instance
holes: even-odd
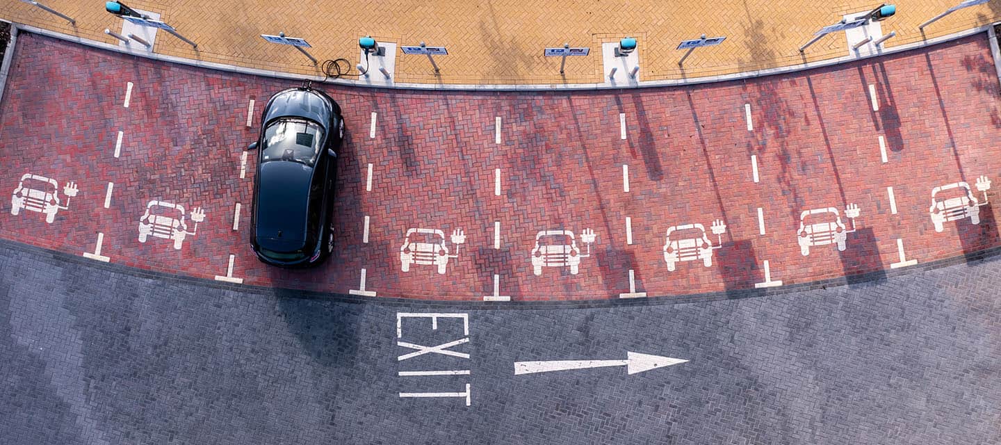
[[[483,309],[235,292],[0,244],[4,444],[996,444],[1001,262],[781,296]],[[467,314],[461,319],[398,313]],[[441,351],[397,357],[468,338]],[[513,363],[690,362],[514,375]],[[421,370],[468,375],[403,376]],[[463,397],[400,398],[414,392]]]

